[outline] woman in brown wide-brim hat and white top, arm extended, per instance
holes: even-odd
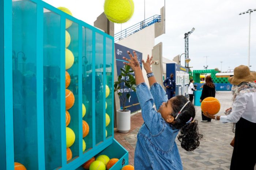
[[[205,113],[208,118],[221,122],[236,123],[234,150],[230,170],[254,170],[256,163],[256,80],[255,73],[249,67],[240,65],[229,78],[233,84],[232,111],[226,116],[214,116]]]

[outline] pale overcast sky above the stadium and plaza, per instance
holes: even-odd
[[[74,17],[93,25],[103,11],[104,0],[44,0],[54,7],[67,7]],[[122,24],[128,28],[144,20],[144,0],[133,0],[135,9],[132,18]],[[164,0],[145,0],[146,19],[160,15]],[[155,39],[163,42],[163,56],[172,60],[185,52],[184,33],[189,36],[189,67],[191,70],[219,68],[234,69],[240,64],[248,66],[249,14],[240,12],[256,8],[256,0],[166,0],[166,33]],[[115,33],[121,24],[115,24]],[[136,49],[135,49],[136,50]],[[208,56],[207,60],[206,57]],[[184,66],[185,55],[181,56]],[[250,65],[256,71],[256,11],[251,13]]]

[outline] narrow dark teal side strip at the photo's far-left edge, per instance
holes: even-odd
[[[6,168],[4,118],[4,2],[0,2],[0,165]],[[2,102],[3,101],[3,102]]]

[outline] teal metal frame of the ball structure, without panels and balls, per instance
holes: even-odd
[[[17,19],[14,19],[15,14],[13,14],[14,10],[14,4],[15,3],[24,3],[21,5],[22,8],[28,9],[30,8],[29,5],[27,4],[33,4],[32,6],[35,7],[36,11],[35,16],[30,15],[31,13],[26,13],[24,14],[25,18],[23,21],[23,18],[21,18],[20,23],[21,24],[27,24],[25,25],[27,29],[27,34],[24,33],[24,35],[18,35],[20,37],[24,37],[23,39],[20,39],[20,41],[24,41],[23,43],[28,43],[26,45],[26,48],[29,48],[31,46],[31,54],[26,54],[27,58],[25,57],[25,54],[23,53],[23,60],[31,60],[31,62],[35,63],[35,72],[36,72],[36,80],[32,85],[30,84],[20,84],[20,86],[25,86],[24,88],[28,89],[31,88],[29,86],[35,85],[35,94],[26,94],[26,98],[24,98],[24,102],[27,103],[27,105],[31,105],[29,109],[26,110],[25,113],[29,113],[29,119],[25,116],[24,120],[20,120],[20,123],[22,121],[27,122],[27,126],[24,127],[24,129],[17,127],[21,124],[18,124],[18,120],[16,120],[16,115],[18,115],[17,112],[14,112],[14,105],[16,104],[14,101],[14,95],[16,95],[16,92],[14,92],[14,85],[15,87],[17,86],[16,79],[17,77],[14,77],[13,75],[16,74],[13,72],[13,69],[15,67],[19,68],[19,64],[21,64],[21,67],[24,67],[23,65],[28,64],[28,63],[18,63],[18,52],[16,55],[16,52],[13,52],[14,48],[24,48],[18,47],[16,41],[16,37],[18,33],[16,33],[16,29],[13,29],[13,20],[17,21]],[[15,6],[15,8],[17,8]],[[18,5],[19,8],[19,5]],[[32,8],[32,7],[31,7]],[[29,9],[28,9],[29,10]],[[78,94],[76,94],[78,97],[76,97],[74,108],[72,108],[71,112],[73,114],[75,113],[76,115],[73,115],[73,119],[71,120],[71,126],[72,129],[74,130],[76,134],[76,140],[73,146],[71,146],[71,150],[73,153],[73,157],[71,161],[67,162],[67,153],[66,153],[66,126],[65,126],[65,85],[64,83],[59,83],[58,89],[59,89],[59,98],[58,100],[59,105],[56,105],[57,112],[55,113],[56,115],[52,115],[51,112],[48,112],[49,115],[55,116],[52,117],[57,120],[59,118],[60,120],[56,121],[56,129],[54,129],[52,126],[48,126],[48,121],[51,121],[50,119],[47,119],[45,113],[49,108],[45,107],[45,104],[42,104],[46,100],[47,94],[45,94],[45,74],[44,68],[45,68],[45,55],[44,55],[44,17],[45,17],[45,10],[49,10],[53,15],[59,16],[60,21],[58,22],[58,28],[59,29],[59,44],[58,46],[54,47],[59,50],[59,55],[56,56],[56,58],[59,59],[59,62],[56,62],[56,66],[59,69],[57,71],[59,73],[59,78],[60,82],[65,82],[65,23],[66,20],[70,20],[73,22],[73,24],[76,24],[78,28],[78,40],[76,41],[77,45],[74,47],[76,48],[76,56],[77,56],[77,65],[74,66],[74,68],[71,69],[71,72],[75,73],[78,75]],[[18,17],[24,17],[22,15]],[[35,18],[35,20],[31,20],[31,18]],[[18,25],[18,24],[17,24]],[[46,25],[47,27],[47,25]],[[92,133],[92,146],[87,148],[83,152],[83,144],[82,144],[82,92],[83,92],[83,65],[82,65],[82,53],[83,53],[83,29],[90,29],[92,31],[92,51],[91,51],[91,58],[92,58],[92,117],[91,117],[91,126],[90,126],[90,133]],[[23,28],[20,28],[23,29]],[[31,31],[32,30],[32,31]],[[55,30],[55,31],[56,31]],[[53,30],[54,31],[54,30]],[[31,34],[31,35],[29,35]],[[100,142],[96,143],[96,138],[97,138],[97,131],[96,128],[98,127],[96,122],[96,119],[98,117],[96,116],[96,108],[95,108],[95,103],[97,102],[95,98],[95,70],[97,69],[95,67],[95,64],[97,64],[98,61],[95,61],[96,53],[97,53],[97,40],[95,39],[95,35],[99,34],[103,36],[103,56],[102,56],[102,64],[103,64],[103,89],[102,89],[102,94],[103,94],[103,99],[102,102],[104,103],[102,106],[102,114],[101,119],[102,119],[102,139]],[[15,36],[14,36],[15,35]],[[35,35],[35,37],[33,37]],[[26,37],[28,42],[26,42]],[[30,41],[29,41],[30,40]],[[31,41],[33,40],[33,41]],[[110,44],[106,44],[106,42],[111,42]],[[35,42],[35,44],[34,44]],[[108,84],[106,82],[106,75],[108,74],[106,72],[106,53],[108,52],[106,49],[106,46],[109,45],[110,47],[112,46],[112,57],[111,57],[111,77],[112,84]],[[35,46],[35,48],[33,48]],[[49,49],[48,49],[49,50]],[[33,56],[35,53],[36,56]],[[20,53],[21,54],[21,53]],[[74,52],[75,54],[75,52]],[[11,58],[10,56],[13,56],[14,58]],[[15,63],[15,60],[17,63]],[[32,61],[33,60],[33,61]],[[54,61],[54,59],[52,59]],[[15,65],[16,64],[16,65]],[[72,66],[73,67],[73,66]],[[17,69],[15,68],[15,69]],[[31,68],[32,70],[34,68]],[[114,38],[99,29],[76,19],[75,17],[72,17],[68,15],[65,12],[60,11],[59,9],[45,3],[44,1],[41,0],[19,0],[19,1],[11,1],[11,0],[0,0],[0,78],[4,81],[0,81],[0,100],[4,102],[0,102],[0,165],[3,169],[11,170],[14,169],[14,162],[19,162],[19,159],[23,159],[27,165],[29,165],[28,168],[32,169],[39,169],[39,170],[44,170],[48,169],[77,169],[79,168],[80,165],[82,165],[84,162],[89,160],[91,157],[94,157],[95,155],[98,154],[110,154],[112,157],[115,158],[120,158],[120,162],[113,166],[112,169],[121,169],[121,166],[127,165],[128,164],[128,151],[125,150],[116,140],[114,140],[114,91],[113,91],[113,82],[114,82]],[[29,72],[26,72],[26,74],[29,74]],[[25,78],[24,78],[25,79]],[[24,83],[24,80],[23,80]],[[26,82],[27,83],[27,82]],[[108,105],[108,107],[111,107],[111,111],[108,113],[110,116],[110,125],[108,127],[108,130],[110,132],[108,133],[108,136],[105,137],[105,113],[106,113],[106,108],[105,108],[105,102],[106,102],[106,89],[105,85],[108,84],[111,90],[110,98],[111,98],[111,103]],[[22,87],[23,88],[23,87]],[[26,90],[25,89],[25,90]],[[31,101],[27,98],[32,96],[35,98],[36,101],[33,103],[28,103],[28,101]],[[79,106],[79,107],[78,107]],[[35,110],[33,110],[35,108]],[[15,108],[16,109],[16,108]],[[109,110],[109,108],[108,108]],[[60,114],[61,113],[61,114]],[[20,115],[19,115],[20,116]],[[20,118],[23,118],[22,116]],[[100,119],[99,119],[100,120]],[[52,120],[54,121],[54,120]],[[15,123],[16,122],[16,123]],[[47,125],[47,126],[46,126]],[[50,124],[52,125],[52,124]],[[21,126],[23,127],[23,126]],[[50,131],[52,130],[52,131]],[[27,153],[30,153],[30,155],[21,155],[23,153],[15,153],[18,152],[17,150],[15,151],[15,148],[18,147],[18,150],[24,149],[24,148],[19,148],[19,143],[24,144],[23,138],[17,139],[15,138],[15,134],[22,134],[23,132],[28,131],[31,133],[31,136],[24,136],[26,139],[30,139],[25,141],[25,150]],[[57,131],[57,133],[56,133]],[[29,133],[28,133],[29,134]],[[56,141],[49,142],[46,139],[46,136],[56,136],[55,138]],[[19,137],[22,137],[20,135]],[[35,137],[35,138],[33,138]],[[59,138],[59,139],[58,139]],[[16,141],[15,141],[16,140]],[[25,139],[24,139],[25,140]],[[57,146],[59,145],[59,146]],[[31,146],[31,147],[30,147]],[[52,150],[49,149],[52,147]],[[108,149],[109,147],[109,149]],[[57,148],[60,148],[58,150]],[[112,153],[113,149],[116,149],[116,154]],[[55,154],[59,153],[59,157],[56,155],[54,157],[50,157],[49,152],[53,150],[55,151]],[[120,153],[118,153],[118,150]],[[32,154],[34,153],[34,154]],[[23,158],[26,157],[26,158]],[[18,159],[18,160],[17,160]],[[54,162],[50,165],[49,164],[49,159],[56,159],[56,161],[52,160],[51,162]],[[123,161],[125,159],[125,161]],[[22,163],[22,162],[20,162]]]

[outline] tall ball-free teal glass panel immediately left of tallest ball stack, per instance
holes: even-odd
[[[44,9],[45,169],[61,166],[60,15]]]

